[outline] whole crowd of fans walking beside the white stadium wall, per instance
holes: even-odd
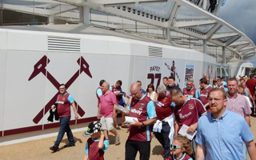
[[[63,114],[63,107],[73,106],[74,100],[66,93],[65,85],[59,89],[58,105],[53,105],[52,109],[58,106],[61,129],[54,146],[50,147],[53,151],[58,150],[65,132],[70,141],[66,147],[75,145],[68,126],[70,107]],[[176,86],[173,76],[162,78],[162,84],[156,89],[149,84],[143,90],[142,82],[137,81],[131,84],[130,94],[123,92],[121,80],[113,86],[101,80],[96,90],[98,122],[91,122],[84,133],[84,136],[90,136],[84,159],[104,159],[109,146],[109,131],[114,134],[115,145],[120,145],[118,130],[121,128],[117,119],[120,113],[121,127],[129,131],[125,144],[126,160],[134,160],[138,152],[140,160],[150,159],[153,137],[162,145],[165,160],[246,159],[247,153],[256,160],[254,135],[250,131],[255,89],[254,75],[250,75],[250,79],[230,78],[227,82],[216,77],[210,84],[207,75],[203,74],[198,88],[190,78],[182,89]],[[63,97],[66,98],[64,102]],[[77,118],[76,110],[74,113]],[[132,122],[124,124],[125,116]]]

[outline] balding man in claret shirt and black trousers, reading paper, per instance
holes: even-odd
[[[156,121],[154,102],[142,94],[142,87],[138,82],[130,86],[132,99],[128,110],[130,117],[138,118],[134,123],[130,123],[130,134],[126,141],[126,160],[134,160],[137,152],[140,160],[150,159],[151,127]]]

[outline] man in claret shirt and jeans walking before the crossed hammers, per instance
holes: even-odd
[[[57,102],[58,103],[58,115],[59,115],[59,122],[61,123],[61,126],[58,131],[58,137],[57,140],[54,143],[54,146],[50,147],[50,150],[53,150],[56,152],[58,150],[59,143],[62,142],[62,138],[66,132],[67,138],[69,139],[69,144],[66,144],[65,147],[74,146],[74,136],[72,134],[72,131],[70,130],[70,118],[71,118],[71,111],[70,106],[72,106],[74,110],[74,118],[78,119],[78,112],[76,109],[76,106],[74,105],[74,98],[71,94],[66,92],[66,85],[61,84],[59,87],[59,93]],[[52,109],[55,108],[55,106],[51,106]]]

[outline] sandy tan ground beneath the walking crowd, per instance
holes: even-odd
[[[251,117],[251,130],[256,136],[256,118]],[[83,132],[74,133],[74,138],[77,141],[76,146],[64,148],[63,146],[68,142],[66,135],[63,138],[60,144],[60,150],[52,153],[49,150],[50,146],[54,145],[54,141],[56,137],[51,138],[42,138],[39,140],[29,141],[29,142],[21,142],[8,146],[0,146],[0,159],[1,160],[48,160],[48,159],[83,159],[84,157],[84,148],[86,145],[87,138],[82,136]],[[106,160],[114,160],[114,159],[124,159],[125,154],[125,142],[128,136],[126,133],[126,129],[118,130],[118,134],[121,135],[121,144],[119,146],[114,145],[114,136],[110,135],[110,146],[106,150],[105,159]],[[162,160],[162,146],[156,138],[152,139],[151,142],[151,154],[150,159],[152,160]],[[137,158],[138,154],[137,154]]]

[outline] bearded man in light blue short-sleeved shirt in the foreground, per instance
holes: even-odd
[[[256,159],[254,135],[245,118],[226,110],[226,92],[220,88],[210,91],[210,113],[198,121],[196,159],[244,159],[242,143],[246,143],[250,159]]]

